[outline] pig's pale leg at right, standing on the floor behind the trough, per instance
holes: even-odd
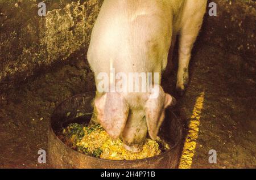
[[[200,8],[192,8],[193,3],[187,3],[186,6],[189,7],[185,8],[179,33],[179,68],[176,90],[180,95],[183,95],[189,82],[188,66],[191,59],[191,51],[203,23],[206,4],[201,3]]]

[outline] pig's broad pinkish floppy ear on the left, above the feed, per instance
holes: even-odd
[[[113,139],[117,139],[125,128],[129,106],[119,93],[105,93],[95,100],[97,118],[101,126]]]

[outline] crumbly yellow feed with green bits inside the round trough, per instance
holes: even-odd
[[[139,153],[132,153],[123,147],[121,139],[113,140],[99,125],[82,126],[70,124],[63,129],[64,142],[73,149],[86,155],[108,160],[138,160],[153,157],[170,149],[169,145],[160,138],[158,140],[146,139]],[[160,149],[160,147],[162,149]]]

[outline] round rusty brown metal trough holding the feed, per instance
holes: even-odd
[[[183,146],[183,126],[170,109],[160,128],[159,136],[171,149],[158,156],[141,160],[105,160],[75,151],[57,137],[57,133],[69,123],[89,122],[95,92],[82,93],[62,102],[52,114],[48,130],[48,157],[52,168],[177,168]]]

